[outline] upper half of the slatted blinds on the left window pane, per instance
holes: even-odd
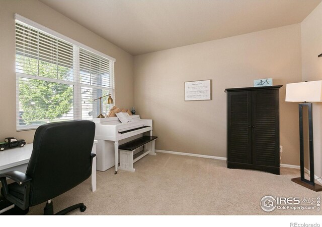
[[[16,23],[17,72],[61,80],[72,80],[73,46]]]

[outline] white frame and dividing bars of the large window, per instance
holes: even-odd
[[[73,118],[74,120],[80,120],[82,118],[82,101],[81,101],[81,87],[82,86],[87,86],[86,84],[82,84],[79,83],[79,47],[84,48],[94,54],[97,54],[105,59],[108,59],[112,62],[112,66],[111,66],[111,74],[112,74],[112,83],[111,83],[111,87],[99,87],[97,86],[96,88],[98,89],[108,89],[111,93],[111,95],[113,96],[114,99],[114,103],[115,103],[115,78],[114,78],[114,63],[116,62],[116,60],[114,58],[112,58],[111,56],[102,53],[96,49],[93,49],[87,45],[84,45],[83,43],[77,42],[67,36],[64,36],[54,30],[51,30],[50,28],[47,28],[41,24],[38,24],[28,18],[25,18],[19,14],[15,14],[15,20],[18,23],[21,24],[25,24],[27,26],[32,26],[36,29],[39,29],[42,33],[47,33],[51,36],[55,36],[58,39],[61,39],[63,41],[69,42],[70,44],[73,45],[73,51],[74,51],[74,59],[73,59],[73,81],[61,81],[58,79],[52,79],[52,78],[47,78],[47,77],[42,77],[42,76],[34,76],[34,75],[28,75],[28,74],[23,74],[23,73],[18,73],[16,72],[16,89],[17,89],[17,97],[16,97],[16,125],[17,125],[17,131],[25,131],[25,130],[34,130],[36,128],[38,128],[40,125],[33,125],[33,126],[20,126],[19,125],[19,78],[23,77],[23,78],[29,78],[29,79],[36,79],[36,80],[44,80],[44,81],[50,81],[50,82],[55,82],[55,83],[63,83],[63,84],[69,84],[69,85],[73,85],[73,96],[74,96],[74,101],[73,101],[73,106],[74,106],[74,115]],[[76,66],[76,67],[75,67]],[[95,86],[91,86],[91,87],[95,87]],[[95,118],[95,116],[93,116],[93,118]]]

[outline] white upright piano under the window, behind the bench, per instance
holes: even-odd
[[[143,133],[149,132],[152,136],[152,120],[140,119],[139,115],[130,116],[132,121],[121,123],[117,117],[96,118],[95,139],[96,146],[96,167],[98,171],[106,171],[115,165],[117,174],[119,163],[119,145],[139,138]],[[154,152],[154,142],[151,150]]]

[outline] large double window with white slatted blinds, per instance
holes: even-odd
[[[93,100],[114,96],[114,62],[16,14],[17,130],[95,118],[100,100]],[[106,98],[103,114],[110,108]]]

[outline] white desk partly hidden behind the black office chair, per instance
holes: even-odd
[[[97,140],[94,140],[92,153],[96,154]],[[9,171],[20,171],[26,173],[27,165],[31,156],[33,144],[24,147],[0,151],[0,174]],[[92,192],[96,191],[96,157],[93,158],[92,166]]]

